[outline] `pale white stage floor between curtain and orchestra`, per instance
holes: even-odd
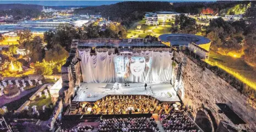
[[[172,85],[168,83],[149,83],[144,87],[144,83],[129,83],[130,86],[124,86],[118,90],[113,90],[115,83],[81,83],[81,87],[74,97],[74,102],[95,102],[107,95],[150,95],[162,102],[180,101]],[[167,94],[170,93],[171,97]]]

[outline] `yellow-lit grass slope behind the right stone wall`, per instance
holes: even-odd
[[[238,77],[239,80],[248,80],[254,83],[254,86],[256,84],[256,68],[253,68],[250,65],[248,65],[246,62],[244,62],[242,58],[225,56],[211,51],[209,62],[216,63],[217,66],[225,66],[226,68],[224,70],[226,70],[226,72],[230,74],[235,73],[237,75],[241,75],[241,78],[239,78],[237,75],[234,75]]]

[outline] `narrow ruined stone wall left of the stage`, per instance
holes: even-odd
[[[69,57],[61,68],[62,88],[59,90],[59,97],[56,102],[53,117],[51,118],[51,130],[55,127],[54,123],[56,122],[57,118],[62,117],[62,114],[64,114],[64,109],[66,109],[71,104],[71,101],[75,96],[75,89],[80,86],[80,82],[82,80],[80,64],[78,61],[79,56],[77,43],[77,40],[73,40],[71,50],[69,52]],[[75,63],[75,74],[77,76],[77,81],[74,81],[72,76],[70,66],[71,63]]]

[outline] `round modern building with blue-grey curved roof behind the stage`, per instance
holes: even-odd
[[[189,43],[194,43],[206,51],[209,51],[211,40],[209,38],[192,35],[192,34],[163,34],[158,37],[158,40],[165,45],[171,45],[173,47],[186,46]]]

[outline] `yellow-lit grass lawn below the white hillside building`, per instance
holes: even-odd
[[[157,26],[148,26],[145,25],[146,20],[141,20],[136,23],[134,23],[130,29],[127,30],[127,38],[144,38],[147,35],[156,36],[162,34],[170,34],[170,27],[171,25],[157,25]],[[142,25],[141,29],[136,29],[137,25]]]

